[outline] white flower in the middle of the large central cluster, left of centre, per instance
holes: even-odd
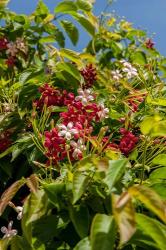
[[[58,133],[59,136],[65,137],[67,140],[71,140],[73,135],[78,134],[78,130],[73,128],[73,123],[69,122],[67,126],[64,124],[58,126],[61,131]]]

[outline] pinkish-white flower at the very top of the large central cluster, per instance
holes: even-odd
[[[76,101],[81,101],[83,105],[87,105],[90,101],[94,100],[91,89],[78,89],[78,96],[76,96]]]

